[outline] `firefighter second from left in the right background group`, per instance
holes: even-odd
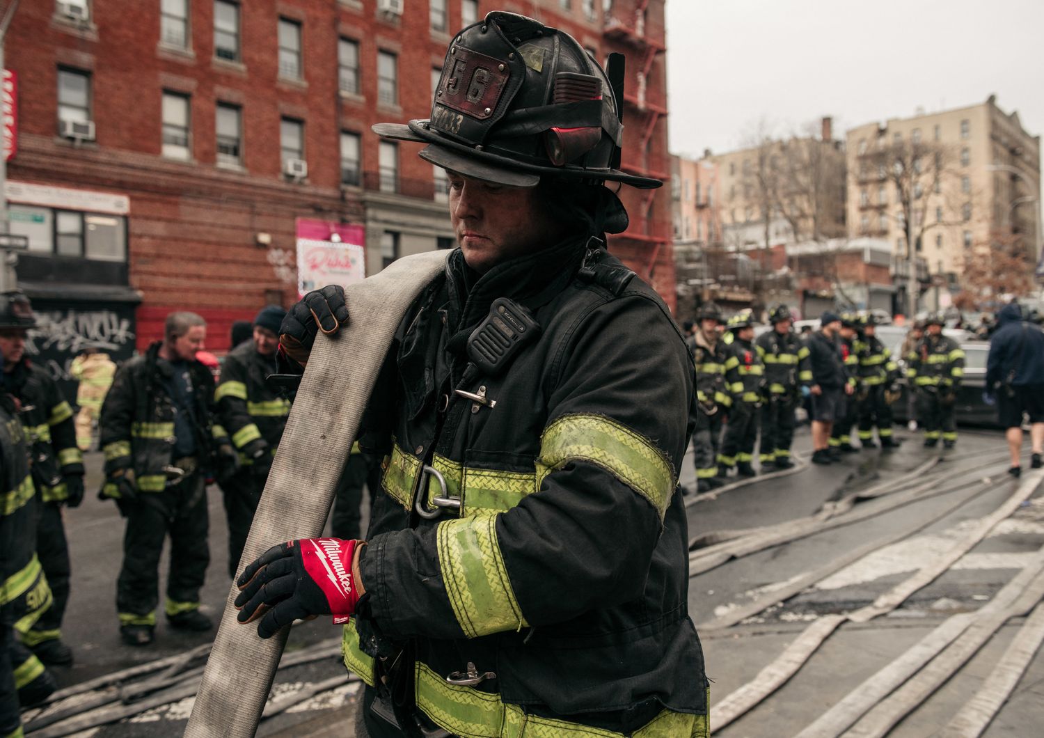
[[[732,403],[721,435],[718,478],[723,479],[733,469],[741,477],[753,477],[757,472],[751,462],[765,389],[765,365],[751,342],[754,339],[753,311],[741,310],[730,317],[727,330],[732,333],[732,342],[725,350],[725,381]]]

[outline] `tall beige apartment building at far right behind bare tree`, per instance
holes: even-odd
[[[956,288],[974,249],[998,239],[1017,239],[1036,259],[1040,137],[1022,128],[1018,113],[1001,111],[994,96],[852,128],[847,151],[849,236],[886,238],[905,256],[909,234],[936,289]]]

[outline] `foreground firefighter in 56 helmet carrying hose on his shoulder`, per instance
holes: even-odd
[[[603,72],[564,31],[493,11],[454,35],[431,120],[375,126],[448,170],[459,248],[371,399],[360,446],[388,458],[366,545],[280,544],[236,600],[262,637],[354,614],[346,662],[375,738],[707,735],[674,494],[691,358],[604,247],[626,215],[602,182],[659,184],[613,168],[620,61]],[[490,358],[504,313],[531,338]],[[310,293],[281,347],[306,360],[316,325],[347,319],[341,290]]]

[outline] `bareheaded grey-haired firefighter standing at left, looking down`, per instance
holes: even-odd
[[[101,406],[100,497],[116,500],[127,519],[116,608],[120,636],[133,646],[152,642],[157,569],[167,535],[167,622],[188,630],[212,627],[199,612],[210,563],[205,477],[216,447],[226,446],[223,459],[235,457],[228,438],[214,432],[214,378],[195,359],[206,336],[199,315],[167,315],[163,340],[117,370]]]

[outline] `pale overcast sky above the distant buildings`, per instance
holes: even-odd
[[[667,0],[672,153],[824,115],[834,136],[991,93],[1044,134],[1044,0]]]

